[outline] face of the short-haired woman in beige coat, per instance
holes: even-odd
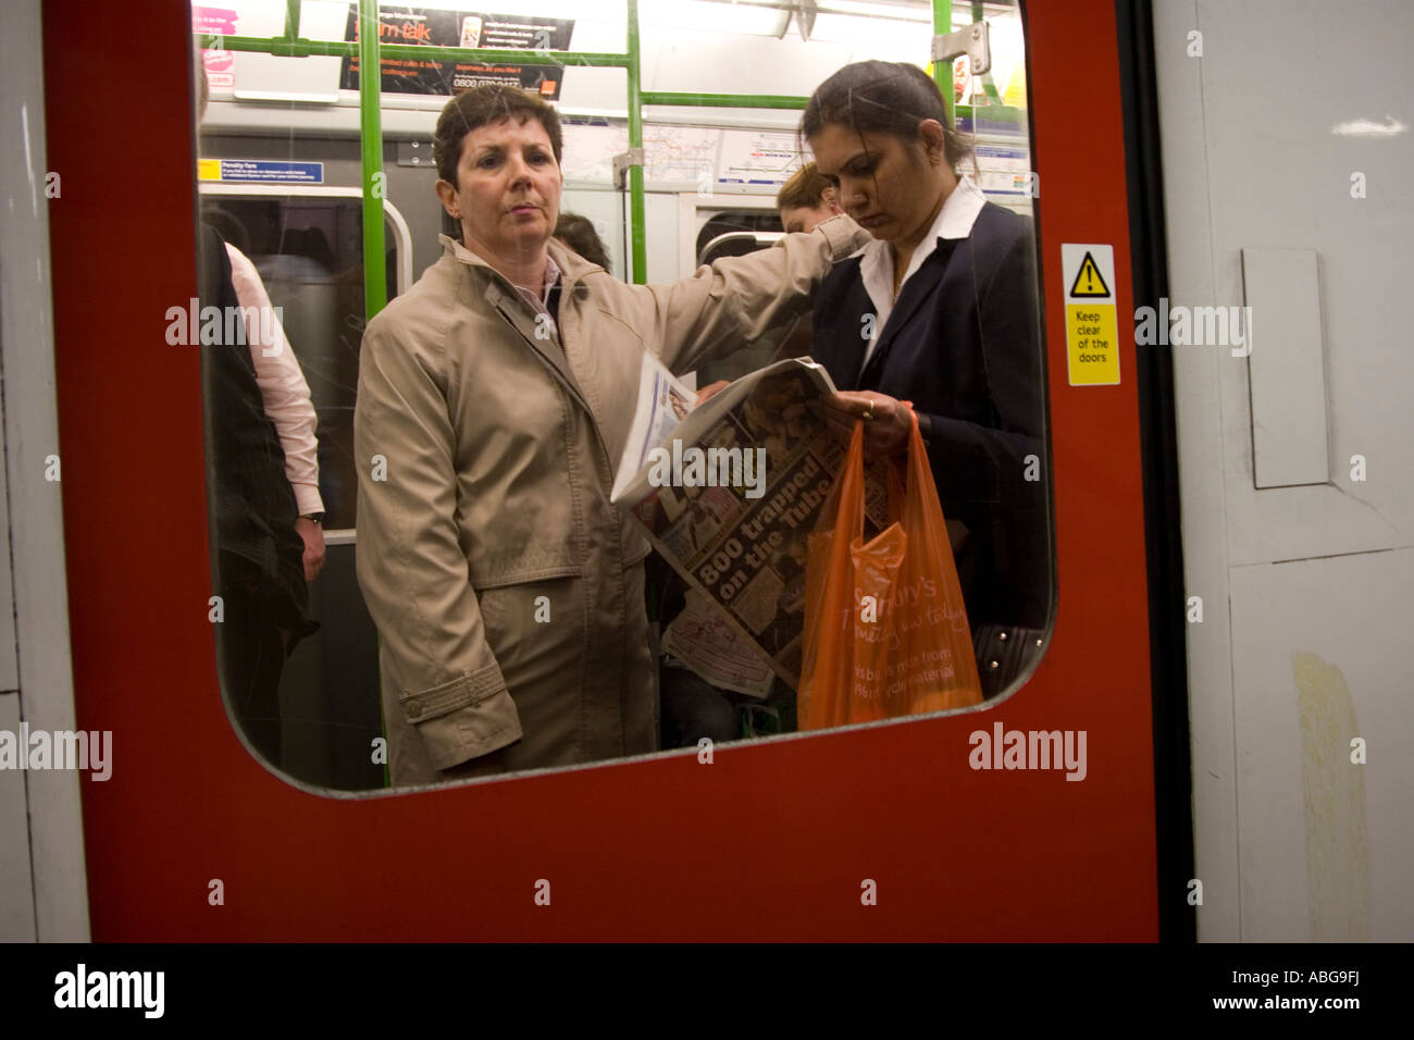
[[[550,239],[561,190],[550,136],[539,119],[522,115],[471,130],[461,141],[457,184],[437,183],[468,249],[522,262]]]

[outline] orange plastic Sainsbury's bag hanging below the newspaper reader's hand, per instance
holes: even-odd
[[[906,487],[864,542],[864,423],[810,536],[802,730],[981,703],[943,509],[913,419]]]

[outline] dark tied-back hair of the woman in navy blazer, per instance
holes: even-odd
[[[943,127],[943,154],[954,170],[971,154],[971,141],[957,133],[937,83],[902,61],[857,61],[831,75],[810,95],[800,116],[802,151],[827,123],[855,133],[891,133],[905,144],[918,140],[918,125],[936,119]]]

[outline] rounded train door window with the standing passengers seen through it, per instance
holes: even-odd
[[[855,61],[932,74],[923,4],[822,3],[803,25],[799,13],[747,7],[643,4],[643,89],[807,96],[840,71],[840,42]],[[198,30],[273,37],[286,8],[236,0],[194,18]],[[300,35],[351,40],[352,11],[307,1]],[[218,659],[257,753],[310,784],[376,790],[986,705],[1024,681],[1053,589],[1036,177],[1019,10],[953,7],[957,28],[974,16],[990,30],[986,72],[957,58],[942,91],[925,79],[928,98],[901,102],[884,82],[898,67],[874,69],[848,92],[854,109],[820,106],[813,133],[797,132],[799,110],[649,106],[648,273],[683,280],[649,296],[618,280],[632,273],[635,241],[614,168],[629,151],[626,76],[560,57],[622,50],[622,4],[386,8],[385,42],[537,54],[506,68],[428,61],[416,75],[385,62],[390,304],[372,368],[356,61],[206,51],[201,304],[249,317],[259,286],[280,330],[262,337],[257,314],[255,342],[229,327],[204,342]],[[478,123],[454,144],[484,151],[438,187],[448,96],[512,79],[559,112],[560,158],[537,156],[533,113]],[[918,119],[881,122],[872,109]],[[919,129],[929,120],[936,137]],[[506,133],[481,134],[488,126]],[[778,209],[812,160],[827,194],[789,205],[782,195]],[[523,183],[508,187],[496,170],[516,163]],[[831,208],[871,238],[819,272],[813,299],[783,306],[785,289],[762,291],[786,282],[771,267],[778,239]],[[522,241],[506,222],[546,219],[549,235],[549,216],[567,214],[583,219],[556,221],[570,250],[553,253],[563,291],[526,284],[543,269],[527,275],[534,265],[506,262],[513,249],[496,252]],[[455,252],[443,259],[458,238],[472,255],[460,266]],[[687,279],[700,263],[724,265],[735,299],[696,296]],[[417,304],[399,301],[424,272]],[[703,333],[714,307],[738,300],[769,317],[734,310],[725,334]],[[264,351],[280,344],[293,364],[270,364]],[[738,383],[703,405],[696,427],[667,422],[663,450],[673,434],[721,463],[693,475],[690,458],[669,464],[648,441],[624,461],[646,399],[645,347],[687,381],[680,399],[667,383],[648,398],[683,412],[700,391],[766,365],[816,368]],[[812,372],[841,392],[846,433],[807,405],[820,386]],[[923,434],[912,468],[906,424],[902,441],[874,451],[909,410]],[[871,453],[851,488],[882,570],[874,584],[851,570],[817,587],[812,574],[843,566],[830,570],[817,546],[843,531],[829,518],[855,417]],[[653,460],[665,463],[658,477],[611,504],[605,474],[646,474]],[[912,555],[891,572],[884,550],[902,546],[889,532],[911,501],[929,502],[946,549],[918,565],[926,538],[909,519]]]

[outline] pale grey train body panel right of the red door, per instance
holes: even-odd
[[[1199,938],[1407,941],[1414,7],[1154,14],[1169,303],[1253,330],[1172,347]]]

